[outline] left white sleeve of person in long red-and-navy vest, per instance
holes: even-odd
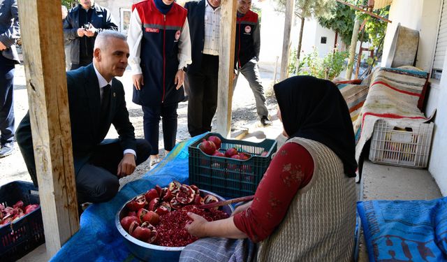
[[[142,25],[140,15],[135,8],[131,14],[131,21],[129,22],[129,32],[127,34],[127,44],[129,45],[129,66],[131,66],[132,75],[142,73],[140,67],[140,50],[142,39]]]

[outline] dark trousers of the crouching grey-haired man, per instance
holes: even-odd
[[[149,157],[150,145],[144,139],[137,139],[137,166]],[[105,202],[112,199],[119,189],[118,164],[124,149],[118,139],[103,140],[89,161],[76,174],[76,190],[79,203]]]

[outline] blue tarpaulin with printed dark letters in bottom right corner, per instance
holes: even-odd
[[[447,261],[447,198],[357,203],[370,262]]]

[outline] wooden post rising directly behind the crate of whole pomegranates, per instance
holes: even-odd
[[[222,0],[219,50],[219,84],[217,93],[217,132],[225,138],[231,132],[231,104],[236,41],[237,0]]]

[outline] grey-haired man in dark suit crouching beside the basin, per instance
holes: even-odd
[[[96,38],[93,64],[67,73],[79,203],[110,200],[119,189],[119,177],[130,175],[136,165],[149,157],[149,143],[135,140],[124,88],[115,79],[124,74],[127,57],[126,36],[117,31],[103,31]],[[104,140],[111,124],[119,139]],[[29,113],[20,123],[16,139],[37,184]]]

